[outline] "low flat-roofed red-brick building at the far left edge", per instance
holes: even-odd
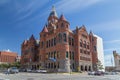
[[[0,63],[14,63],[16,62],[17,53],[10,51],[0,51]]]

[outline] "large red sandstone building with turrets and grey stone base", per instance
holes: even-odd
[[[70,30],[70,23],[64,15],[59,18],[53,7],[40,40],[32,35],[22,43],[22,66],[52,72],[97,70],[96,39],[84,25]]]

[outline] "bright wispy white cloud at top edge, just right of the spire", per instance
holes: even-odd
[[[62,11],[63,13],[72,13],[80,11],[101,1],[103,0],[61,0],[55,5],[57,6],[58,11]]]

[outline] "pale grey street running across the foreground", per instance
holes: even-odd
[[[0,80],[120,80],[119,75],[90,76],[87,74],[53,74],[53,73],[0,73]]]

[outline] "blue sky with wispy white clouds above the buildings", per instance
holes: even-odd
[[[105,65],[112,52],[120,53],[120,0],[0,0],[0,51],[21,54],[21,44],[39,33],[47,23],[52,6],[64,14],[70,29],[86,26],[103,39]]]

